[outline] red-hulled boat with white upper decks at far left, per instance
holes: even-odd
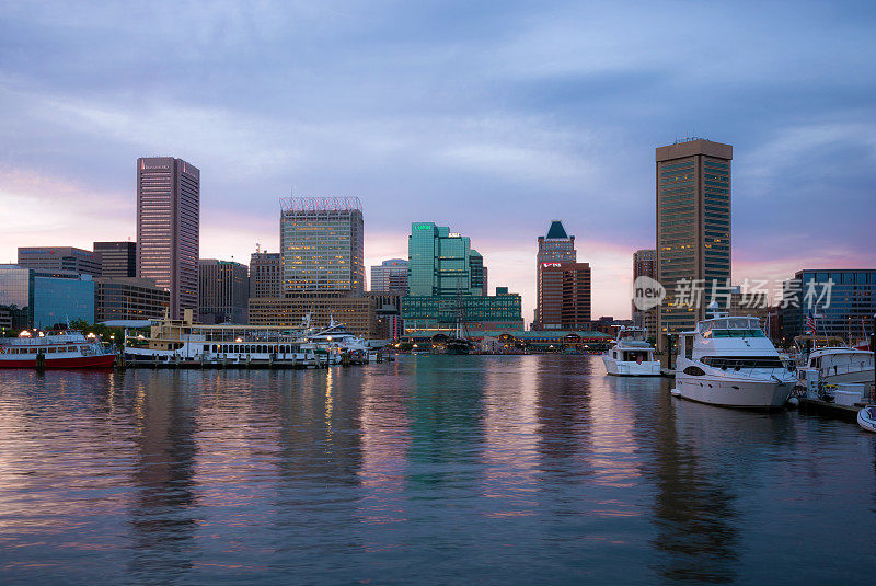
[[[104,348],[76,330],[0,338],[0,368],[36,368],[37,356],[45,357],[45,368],[112,368],[116,353]]]

